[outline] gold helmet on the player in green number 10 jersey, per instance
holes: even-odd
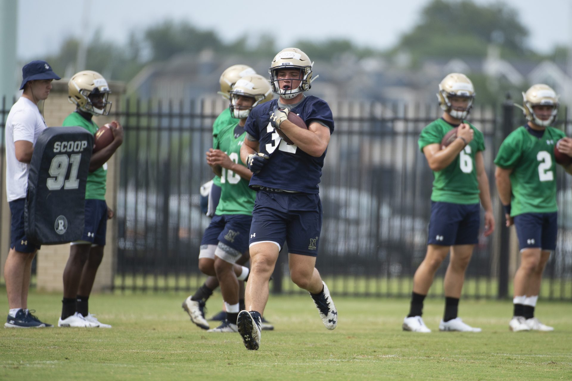
[[[236,105],[238,96],[251,97],[255,99],[255,102],[247,110],[241,110]],[[235,86],[231,90],[231,115],[233,118],[247,118],[251,110],[260,103],[270,101],[272,99],[272,89],[270,88],[270,83],[268,79],[264,78],[262,75],[253,74],[245,75],[236,81]]]

